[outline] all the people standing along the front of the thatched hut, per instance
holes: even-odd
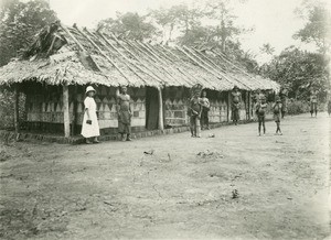
[[[84,100],[85,111],[82,124],[82,135],[86,139],[86,143],[98,143],[98,137],[100,135],[97,108],[94,100],[96,90],[88,86],[86,88],[86,98]],[[311,117],[314,113],[317,116],[317,90],[311,90],[310,95],[310,113]],[[242,94],[237,86],[234,86],[232,92],[232,120],[234,124],[239,121],[239,110],[242,106]],[[276,133],[282,134],[280,130],[280,119],[282,119],[287,112],[287,98],[288,91],[286,88],[280,88],[279,95],[275,98],[273,105],[274,120],[276,122]],[[131,117],[132,111],[130,108],[130,96],[127,94],[127,87],[122,86],[116,90],[117,99],[117,116],[118,116],[118,132],[121,135],[121,141],[131,141]],[[258,120],[258,135],[266,134],[266,112],[267,112],[267,99],[264,94],[258,89],[253,98],[255,113]],[[190,129],[192,138],[201,138],[201,130],[210,129],[209,124],[209,111],[211,108],[210,100],[206,96],[206,91],[195,90],[193,97],[190,100],[188,107],[188,113],[190,116]],[[331,112],[331,101],[328,106],[329,114]]]

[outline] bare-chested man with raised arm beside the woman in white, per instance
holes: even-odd
[[[117,97],[117,116],[118,116],[118,132],[121,134],[121,141],[131,141],[131,108],[130,96],[127,94],[127,87],[121,87],[116,90]]]

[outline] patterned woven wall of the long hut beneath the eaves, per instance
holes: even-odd
[[[61,86],[46,86],[42,84],[26,84],[24,92],[26,94],[26,121],[31,129],[41,131],[62,131],[63,129],[63,101]],[[94,86],[97,90],[95,101],[99,114],[99,127],[102,130],[113,129],[116,132],[118,128],[116,112],[116,88],[106,86]],[[132,129],[142,131],[146,127],[146,88],[128,88],[131,96]],[[166,87],[162,91],[164,107],[164,126],[188,126],[190,122],[188,116],[188,105],[191,97],[190,89],[184,87]],[[248,116],[248,95],[242,91],[243,105],[239,111],[241,120],[247,120]],[[207,98],[211,102],[209,112],[210,122],[218,123],[232,119],[232,109],[227,109],[228,91],[207,90]],[[84,116],[85,86],[70,86],[70,117],[74,121],[74,111],[76,110],[75,126],[76,133],[79,132]],[[252,107],[250,107],[252,108]]]

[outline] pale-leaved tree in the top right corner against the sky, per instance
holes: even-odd
[[[325,54],[331,46],[331,12],[322,2],[303,2],[302,8],[301,11],[297,10],[297,14],[300,13],[301,18],[307,19],[307,23],[293,37],[305,43],[314,43],[319,51]]]

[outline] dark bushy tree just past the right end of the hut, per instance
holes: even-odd
[[[260,74],[289,88],[289,96],[296,99],[307,99],[309,90],[314,87],[319,97],[324,100],[330,85],[328,79],[329,59],[321,53],[309,53],[295,46],[284,50],[269,64],[260,67]]]

